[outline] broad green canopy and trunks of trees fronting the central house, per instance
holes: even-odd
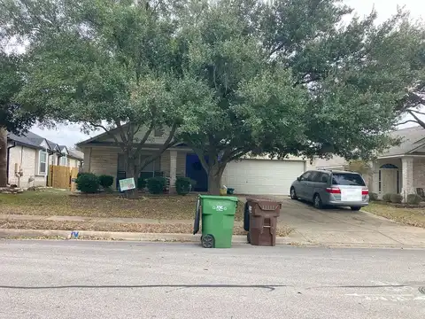
[[[31,61],[19,101],[118,128],[128,170],[174,138],[208,156],[217,189],[245,155],[369,159],[397,143],[388,132],[424,87],[425,31],[406,12],[378,25],[338,0],[138,3],[0,2],[0,30]],[[161,125],[166,142],[139,166],[137,133]]]

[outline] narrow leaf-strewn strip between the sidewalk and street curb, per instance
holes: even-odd
[[[58,221],[21,221],[21,220],[0,220],[0,229],[9,230],[94,230],[94,231],[124,231],[141,233],[177,233],[191,234],[193,226],[187,223],[173,224],[150,224],[150,223],[108,223],[108,222],[58,222]],[[286,237],[292,229],[286,226],[279,226],[277,236]],[[236,226],[233,230],[235,235],[245,235],[243,227]]]

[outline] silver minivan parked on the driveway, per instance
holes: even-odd
[[[311,170],[290,186],[290,198],[313,202],[314,207],[349,206],[354,211],[369,203],[369,191],[358,173]]]

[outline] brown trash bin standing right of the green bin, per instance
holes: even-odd
[[[251,245],[276,245],[277,217],[281,214],[282,202],[268,199],[246,198],[250,210]]]

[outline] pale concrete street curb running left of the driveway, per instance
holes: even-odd
[[[64,237],[67,239],[111,239],[131,241],[160,241],[160,242],[187,242],[199,243],[200,235],[190,234],[162,234],[162,233],[138,233],[123,231],[90,231],[90,230],[8,230],[0,229],[0,238],[24,237]],[[291,240],[288,237],[276,237],[277,245],[288,245]],[[233,235],[233,244],[246,244],[246,236]]]

